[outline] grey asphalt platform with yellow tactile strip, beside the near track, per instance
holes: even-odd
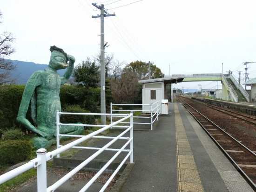
[[[169,115],[160,116],[150,130],[134,125],[134,167],[125,178],[121,192],[253,192],[221,150],[203,131],[180,102],[168,103]],[[119,132],[110,133],[115,136]],[[127,134],[129,136],[129,133]],[[88,143],[102,147],[106,140]],[[110,146],[117,148],[125,141]],[[95,151],[86,150],[71,159],[86,159]],[[97,159],[110,159],[115,152],[103,152]],[[121,160],[126,154],[118,156]],[[129,159],[128,159],[129,160]],[[54,177],[54,176],[52,176]],[[53,180],[49,178],[47,182]],[[71,184],[67,184],[70,188]],[[84,182],[72,181],[72,189],[63,186],[59,191],[80,191]],[[33,185],[19,192],[34,191]],[[96,187],[96,188],[95,188]],[[89,188],[99,191],[98,186]],[[64,190],[65,189],[65,190]],[[58,190],[56,190],[58,191]],[[111,191],[117,192],[117,191]]]

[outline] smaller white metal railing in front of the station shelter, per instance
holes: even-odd
[[[150,106],[150,110],[128,110],[128,109],[113,109],[113,106]],[[161,109],[162,109],[162,102],[161,100],[156,101],[154,103],[150,103],[150,104],[114,104],[111,102],[110,104],[110,113],[113,114],[113,112],[117,112],[117,111],[125,111],[125,112],[135,112],[135,111],[140,111],[142,113],[150,113],[149,117],[145,117],[145,116],[134,116],[133,118],[145,118],[145,119],[150,119],[150,122],[133,122],[133,124],[148,124],[150,125],[150,130],[153,130],[153,124],[155,121],[158,121],[158,116],[161,113]],[[111,115],[111,119],[110,122],[113,122],[113,117],[120,117],[119,116],[115,116],[115,115]],[[122,123],[128,123],[128,122],[122,122]]]

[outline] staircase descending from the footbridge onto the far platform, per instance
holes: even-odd
[[[232,76],[232,74],[225,74],[224,77],[228,82],[228,86],[230,88],[229,90],[232,90],[236,93],[235,95],[237,102],[249,102],[248,93],[243,89],[241,84],[236,82],[236,79]]]

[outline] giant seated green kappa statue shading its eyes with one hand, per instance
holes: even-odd
[[[50,51],[52,53],[47,68],[34,72],[27,81],[17,116],[17,122],[38,134],[38,137],[32,139],[37,149],[47,148],[55,143],[56,111],[61,111],[60,87],[71,76],[75,62],[73,56],[67,55],[55,45],[51,46]],[[66,69],[63,77],[57,73],[60,69]],[[26,119],[30,101],[34,123]],[[80,134],[83,129],[82,126],[61,126],[60,133]]]

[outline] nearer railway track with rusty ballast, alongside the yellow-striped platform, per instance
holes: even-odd
[[[178,100],[222,150],[252,189],[256,191],[256,154],[189,105],[184,101],[185,98],[179,97]]]

